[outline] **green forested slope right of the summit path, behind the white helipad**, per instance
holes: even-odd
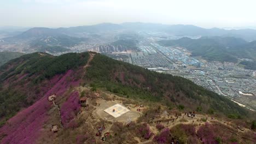
[[[216,111],[226,115],[247,113],[229,99],[183,77],[159,74],[103,55],[94,57],[86,78],[93,87],[104,87],[129,98],[164,101],[170,107],[184,105],[196,109],[200,106],[205,112]]]

